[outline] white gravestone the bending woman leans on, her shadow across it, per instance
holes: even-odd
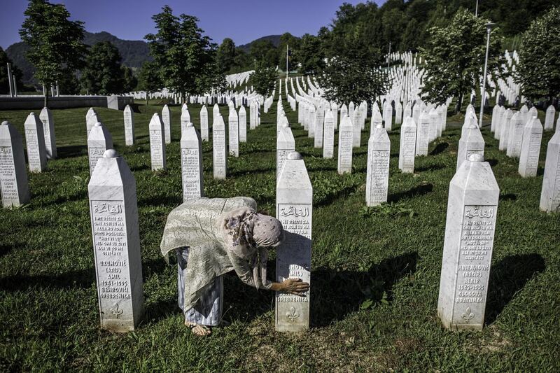
[[[288,155],[276,186],[276,218],[285,239],[276,253],[276,281],[301,279],[311,286],[311,222],[313,188],[300,153]],[[303,297],[276,292],[276,330],[309,329],[309,293]]]

